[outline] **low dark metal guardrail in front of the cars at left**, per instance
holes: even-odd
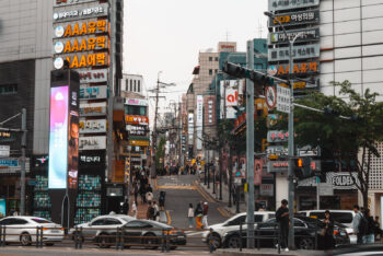
[[[36,228],[27,228],[28,230],[34,230],[34,232],[31,233],[18,233],[18,234],[12,234],[10,230],[12,229],[21,229],[21,226],[4,226],[0,225],[0,247],[5,246],[7,244],[13,244],[13,243],[20,243],[20,242],[11,242],[11,241],[5,241],[7,237],[9,236],[28,236],[30,242],[28,245],[35,244],[36,248],[43,248],[44,244],[53,244],[53,243],[60,243],[60,244],[68,244],[69,246],[73,246],[76,249],[82,249],[84,245],[98,245],[100,247],[113,247],[116,251],[123,251],[126,247],[130,246],[140,246],[140,247],[147,247],[147,248],[160,248],[161,252],[167,253],[172,248],[175,247],[193,247],[193,248],[207,248],[210,253],[216,251],[214,243],[213,243],[213,236],[212,234],[212,229],[210,230],[178,230],[178,229],[139,229],[139,231],[149,231],[151,232],[151,235],[127,235],[126,231],[128,229],[125,228],[114,228],[114,229],[100,229],[100,234],[97,235],[90,235],[86,234],[86,230],[92,230],[94,229],[84,229],[84,228],[78,228],[76,226],[74,229],[63,229],[63,228],[43,228],[40,225]],[[60,234],[55,234],[55,233],[47,233],[45,231],[47,230],[60,230],[63,231]],[[131,230],[131,229],[129,229]],[[204,231],[209,231],[210,235],[208,235],[208,241],[207,243],[202,243],[201,240],[204,238],[202,236],[193,236],[188,237],[185,231],[190,231],[190,232],[200,232],[201,234]],[[179,233],[178,233],[179,232]],[[153,235],[153,233],[160,233],[160,235]],[[185,237],[186,244],[177,244],[176,238],[182,240],[183,237],[178,237],[179,234],[184,234],[183,237]],[[48,241],[45,240],[45,235],[50,236],[50,237],[62,237],[62,241]],[[129,238],[136,238],[138,241],[137,243],[129,242]],[[192,244],[188,245],[187,241],[192,240],[198,240],[201,245],[198,244]]]

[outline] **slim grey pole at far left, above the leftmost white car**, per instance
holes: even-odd
[[[20,178],[20,193],[21,193],[21,206],[20,206],[20,214],[25,216],[25,162],[26,162],[26,155],[25,155],[25,148],[26,148],[26,109],[22,109],[21,115],[21,178]]]

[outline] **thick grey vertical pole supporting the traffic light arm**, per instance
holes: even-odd
[[[247,68],[254,69],[254,40],[247,40]],[[254,248],[254,82],[246,80],[247,248]]]

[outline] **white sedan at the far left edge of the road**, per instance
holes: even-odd
[[[5,217],[0,220],[5,228],[5,243],[21,243],[23,246],[36,242],[37,226],[43,228],[43,242],[54,245],[63,240],[63,229],[47,219],[31,216]]]

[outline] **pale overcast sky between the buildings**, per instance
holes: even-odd
[[[228,34],[244,51],[247,39],[259,38],[259,26],[263,37],[267,35],[266,10],[267,0],[125,1],[124,71],[142,74],[146,89],[155,86],[162,71],[160,81],[177,84],[166,89],[175,93],[163,95],[178,101],[192,82],[198,53],[216,51]]]

